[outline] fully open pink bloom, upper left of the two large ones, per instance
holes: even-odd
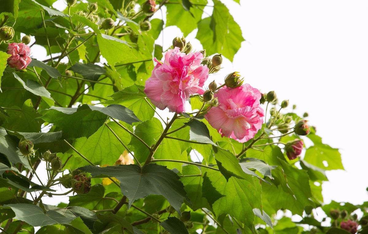
[[[180,49],[167,50],[164,62],[157,59],[151,77],[145,85],[145,93],[160,109],[184,112],[185,101],[191,94],[203,94],[202,88],[208,78],[208,67],[201,64],[201,52],[185,53]]]

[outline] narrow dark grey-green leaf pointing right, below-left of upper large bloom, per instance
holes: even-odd
[[[106,107],[89,105],[89,108],[91,108],[92,111],[99,111],[111,118],[118,119],[130,125],[134,122],[140,122],[130,109],[122,105],[113,104]]]

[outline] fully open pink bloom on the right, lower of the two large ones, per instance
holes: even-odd
[[[220,88],[215,94],[219,105],[212,107],[205,118],[222,136],[247,142],[262,127],[263,109],[259,106],[261,92],[250,84],[237,88]]]

